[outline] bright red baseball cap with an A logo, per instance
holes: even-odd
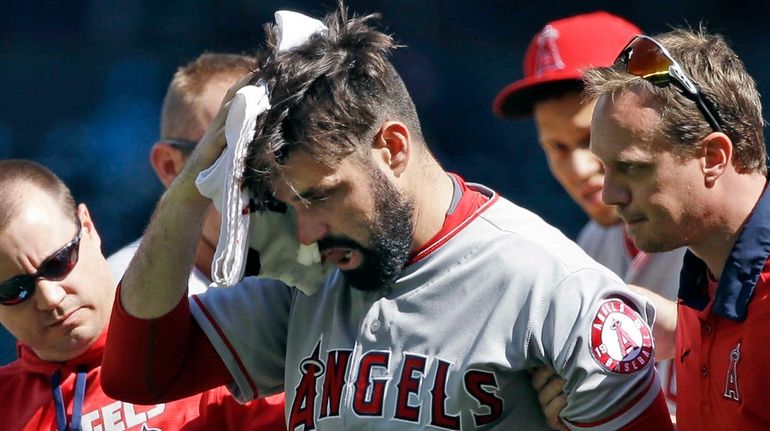
[[[524,78],[503,88],[493,104],[502,118],[532,115],[536,90],[548,84],[577,81],[583,69],[609,66],[639,27],[607,12],[552,21],[543,27],[524,56]]]

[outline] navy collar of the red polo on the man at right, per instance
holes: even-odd
[[[754,211],[743,225],[727,257],[714,298],[714,314],[732,320],[746,320],[759,275],[770,256],[770,192],[762,192]],[[703,310],[709,302],[706,286],[708,268],[687,250],[679,281],[679,299],[688,307]]]

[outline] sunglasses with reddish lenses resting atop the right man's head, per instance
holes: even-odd
[[[682,90],[685,97],[695,102],[714,131],[722,131],[714,106],[703,96],[692,78],[684,73],[682,66],[674,60],[668,50],[655,39],[641,34],[634,36],[620,51],[613,67],[657,86],[673,83]]]

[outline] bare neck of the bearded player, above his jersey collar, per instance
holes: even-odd
[[[444,226],[446,213],[452,204],[454,186],[449,175],[431,161],[414,177],[414,239],[412,251],[425,245]]]

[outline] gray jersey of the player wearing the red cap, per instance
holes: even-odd
[[[578,245],[589,256],[621,276],[626,283],[642,286],[676,301],[679,272],[687,249],[682,247],[665,253],[639,252],[632,257],[625,241],[622,224],[604,227],[594,221],[583,228],[577,239]],[[657,367],[669,411],[676,414],[674,363],[671,360],[660,361]]]

